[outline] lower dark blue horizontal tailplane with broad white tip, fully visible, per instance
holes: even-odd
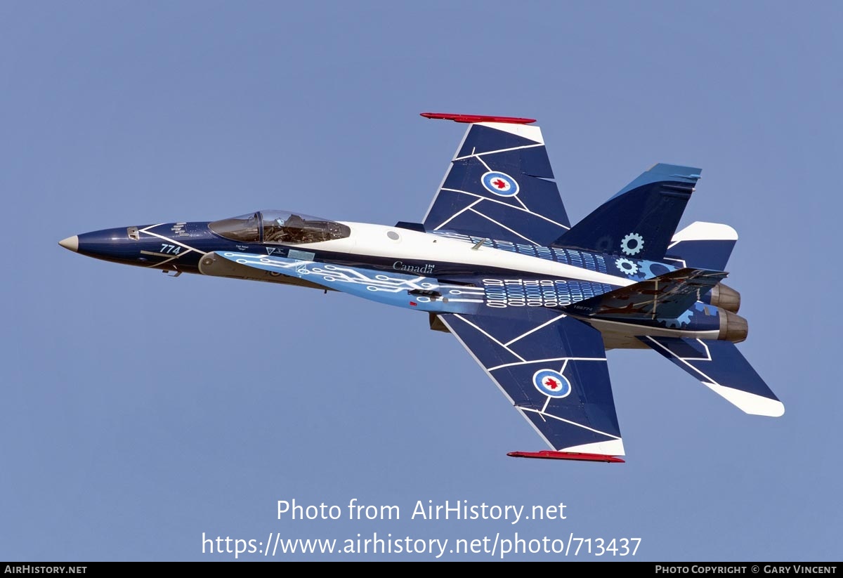
[[[778,417],[785,413],[784,404],[733,343],[649,335],[638,339],[747,414]]]

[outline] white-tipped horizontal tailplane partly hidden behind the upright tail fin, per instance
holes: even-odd
[[[726,269],[738,232],[717,222],[692,222],[674,235],[665,258],[684,267]]]

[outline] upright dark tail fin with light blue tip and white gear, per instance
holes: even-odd
[[[554,246],[661,261],[700,169],[657,164],[626,185]]]

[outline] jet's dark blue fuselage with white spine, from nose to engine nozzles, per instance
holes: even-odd
[[[562,309],[634,284],[634,278],[613,274],[626,270],[630,266],[626,264],[634,264],[636,270],[640,268],[642,279],[644,275],[655,276],[677,269],[665,263],[618,260],[613,255],[579,249],[515,244],[455,233],[424,233],[368,223],[339,224],[350,233],[342,238],[303,244],[265,242],[262,234],[241,242],[214,233],[212,222],[171,222],[83,233],[64,239],[62,246],[126,265],[176,274],[340,290],[430,313],[482,313],[488,308],[520,307]],[[266,256],[257,263],[244,261],[254,260],[255,255]],[[284,264],[278,265],[282,261]],[[339,268],[335,272],[340,275],[330,271],[325,274],[325,270],[314,265]],[[360,278],[361,270],[375,273],[372,281],[381,290],[367,285],[367,278]],[[347,283],[336,281],[352,281],[361,286],[349,291]],[[570,309],[566,313],[576,316]],[[683,317],[667,323],[655,317],[631,323],[610,315],[608,318],[583,315],[583,320],[601,330],[609,348],[642,347],[639,340],[631,339],[632,334],[681,334],[730,341],[744,340],[746,336],[743,318],[710,301],[697,302],[695,311],[689,310]]]

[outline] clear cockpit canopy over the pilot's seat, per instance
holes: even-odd
[[[213,233],[242,243],[303,244],[345,238],[352,230],[340,222],[290,211],[258,211],[208,223]]]

